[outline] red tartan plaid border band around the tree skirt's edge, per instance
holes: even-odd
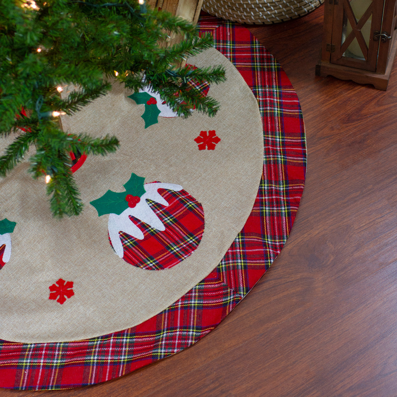
[[[139,326],[69,343],[0,342],[0,386],[62,389],[114,379],[181,351],[213,330],[268,269],[291,230],[306,170],[299,100],[271,54],[241,25],[204,17],[201,32],[237,67],[264,123],[264,173],[251,215],[222,262]]]

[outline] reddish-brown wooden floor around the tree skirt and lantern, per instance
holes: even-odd
[[[93,387],[1,397],[397,396],[397,64],[386,92],[315,77],[322,17],[250,27],[298,93],[308,146],[301,206],[265,276],[173,357]]]

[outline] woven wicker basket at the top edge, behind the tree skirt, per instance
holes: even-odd
[[[202,10],[240,23],[271,24],[306,15],[324,0],[204,0]]]

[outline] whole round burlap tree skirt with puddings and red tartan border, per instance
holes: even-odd
[[[225,83],[189,83],[220,102],[214,118],[176,117],[156,93],[114,83],[62,119],[71,135],[120,141],[104,157],[71,153],[80,216],[54,220],[25,163],[2,181],[0,387],[95,384],[180,351],[285,243],[306,161],[296,93],[247,29],[199,26],[216,48],[188,63],[226,69]]]

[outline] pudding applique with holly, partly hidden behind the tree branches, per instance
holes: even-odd
[[[194,65],[187,64],[187,66],[193,70],[197,69],[197,67]],[[195,91],[198,91],[203,97],[208,95],[208,91],[210,89],[209,83],[198,83],[196,79],[188,79],[186,81],[186,85],[188,87],[188,91],[193,89]],[[158,116],[177,117],[177,113],[173,112],[170,106],[167,105],[166,101],[163,101],[160,98],[160,94],[156,91],[153,91],[150,87],[145,87],[145,89],[141,90],[139,93],[129,95],[128,98],[133,99],[137,103],[137,105],[145,105],[145,112],[141,116],[145,121],[145,128],[158,123]],[[191,111],[193,110],[195,110],[195,107],[191,109]]]

